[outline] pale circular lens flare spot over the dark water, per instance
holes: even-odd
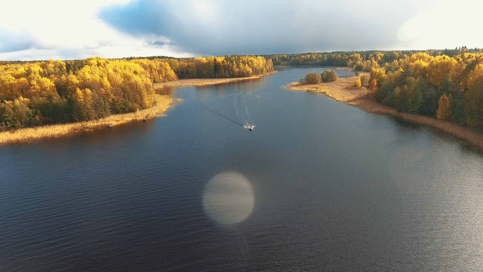
[[[255,206],[252,184],[239,173],[218,174],[206,184],[203,205],[205,212],[217,222],[239,223]]]

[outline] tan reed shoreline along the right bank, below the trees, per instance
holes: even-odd
[[[341,68],[349,68],[349,67],[341,67]],[[344,70],[354,70],[353,68],[344,69]],[[355,71],[355,70],[354,70]],[[469,143],[476,148],[483,150],[483,134],[477,133],[472,131],[469,128],[460,126],[458,124],[449,122],[449,121],[442,121],[435,118],[431,118],[424,115],[417,115],[407,112],[398,112],[396,109],[388,106],[384,106],[372,99],[367,97],[369,93],[368,90],[362,89],[353,89],[349,87],[349,82],[352,80],[357,79],[361,74],[369,74],[368,72],[359,72],[355,71],[356,76],[351,77],[341,77],[337,81],[334,82],[327,82],[327,83],[320,83],[320,84],[301,84],[298,82],[292,82],[284,88],[294,91],[312,91],[312,92],[319,92],[324,93],[328,97],[345,103],[350,106],[359,107],[362,110],[365,110],[370,113],[376,114],[386,114],[392,115],[406,121],[412,121],[422,125],[428,125],[433,128],[439,129],[446,133],[449,133],[466,143]]]

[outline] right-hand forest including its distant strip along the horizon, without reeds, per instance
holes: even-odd
[[[466,46],[426,51],[269,55],[275,65],[346,66],[367,71],[351,82],[400,112],[483,131],[483,51]]]

